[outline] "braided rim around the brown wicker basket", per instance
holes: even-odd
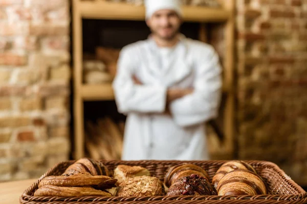
[[[291,203],[299,202],[299,203],[307,203],[307,193],[298,185],[296,184],[283,170],[281,170],[275,163],[268,162],[268,161],[260,161],[260,160],[240,160],[245,161],[247,163],[253,165],[264,165],[266,167],[272,168],[275,172],[278,173],[280,179],[286,182],[289,186],[294,188],[298,194],[290,194],[290,195],[240,195],[240,196],[218,196],[218,195],[205,195],[205,196],[142,196],[142,197],[119,197],[119,196],[112,196],[112,197],[98,197],[98,196],[82,196],[82,197],[43,197],[43,196],[32,196],[31,192],[33,192],[38,183],[46,176],[50,175],[54,172],[59,166],[63,164],[74,163],[76,160],[69,160],[64,161],[56,164],[50,170],[48,170],[45,174],[43,174],[34,184],[32,184],[28,189],[26,189],[23,194],[20,196],[19,201],[20,203],[89,203],[89,201],[100,201],[101,203],[115,201],[115,202],[157,202],[157,201],[202,201],[202,200],[216,200],[221,201],[247,201],[247,200],[258,200],[261,203],[265,203],[265,201],[289,201]],[[133,165],[140,165],[140,164],[178,164],[178,163],[192,163],[192,164],[201,164],[206,162],[222,164],[231,160],[192,160],[192,161],[179,161],[179,160],[138,160],[138,161],[122,161],[122,160],[99,160],[104,163],[114,163],[114,165],[119,164],[133,164]],[[39,202],[35,202],[39,201]],[[271,203],[271,202],[270,202]]]

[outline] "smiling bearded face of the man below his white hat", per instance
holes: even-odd
[[[181,19],[178,14],[169,9],[155,12],[146,23],[151,32],[164,40],[172,40],[179,33]]]

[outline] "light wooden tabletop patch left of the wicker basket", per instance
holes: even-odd
[[[37,180],[38,179],[0,183],[0,203],[19,203],[20,195]]]

